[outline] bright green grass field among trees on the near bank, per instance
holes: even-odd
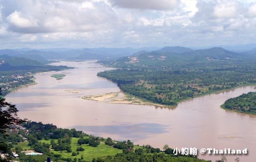
[[[71,140],[71,149],[73,152],[76,152],[76,148],[80,146],[80,145],[77,145],[78,140],[79,138],[72,138]],[[39,140],[39,142],[50,144],[50,140]],[[57,139],[55,140],[55,142],[57,143]],[[28,143],[29,142],[20,142],[18,143],[17,146],[20,146],[21,148],[23,148],[23,150],[29,150],[30,147],[28,146]],[[117,148],[112,148],[109,145],[105,145],[105,143],[100,143],[100,145],[97,147],[92,147],[92,146],[89,146],[88,144],[81,145],[81,147],[84,148],[84,151],[79,151],[79,155],[77,156],[71,156],[72,153],[68,153],[67,151],[50,150],[50,152],[61,154],[61,156],[64,158],[72,158],[72,159],[74,159],[75,157],[79,159],[81,158],[81,155],[83,155],[84,160],[86,161],[91,161],[93,158],[97,158],[97,157],[106,157],[108,155],[115,155],[116,153],[122,153],[122,150],[119,150]]]

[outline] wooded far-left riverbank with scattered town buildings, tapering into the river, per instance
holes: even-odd
[[[44,65],[28,58],[0,55],[0,88],[3,90],[2,94],[6,95],[17,87],[35,83],[32,73],[60,71],[63,69],[72,68]]]

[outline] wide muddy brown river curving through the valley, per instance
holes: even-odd
[[[256,162],[256,116],[223,110],[228,98],[255,92],[255,86],[240,87],[221,93],[183,101],[176,108],[132,104],[109,104],[81,99],[84,95],[119,92],[116,84],[97,77],[109,68],[95,61],[54,63],[75,69],[35,75],[36,85],[23,87],[6,96],[17,105],[18,115],[32,121],[76,128],[87,134],[130,139],[135,144],[163,148],[244,149],[248,155],[226,156],[228,162]],[[62,80],[50,77],[66,73]],[[69,92],[68,92],[69,91]],[[70,91],[79,91],[71,93]],[[221,159],[221,155],[199,155]]]

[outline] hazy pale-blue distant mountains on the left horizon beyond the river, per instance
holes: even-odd
[[[115,61],[118,58],[132,55],[136,52],[145,50],[153,51],[157,47],[143,47],[143,48],[83,48],[83,49],[69,49],[69,48],[53,48],[53,49],[1,49],[0,55],[9,55],[15,57],[29,58],[43,64],[48,64],[52,61],[47,60],[111,60]]]

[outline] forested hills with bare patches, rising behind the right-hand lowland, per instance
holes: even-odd
[[[169,66],[179,63],[234,61],[249,58],[256,59],[255,55],[239,54],[220,47],[200,50],[185,47],[165,47],[157,51],[120,58],[113,65],[118,67],[132,65]]]

